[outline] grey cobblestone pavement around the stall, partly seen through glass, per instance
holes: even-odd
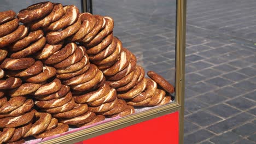
[[[256,1],[187,1],[184,143],[255,143]],[[0,3],[18,11],[25,1]],[[174,83],[175,0],[93,3],[138,64]]]

